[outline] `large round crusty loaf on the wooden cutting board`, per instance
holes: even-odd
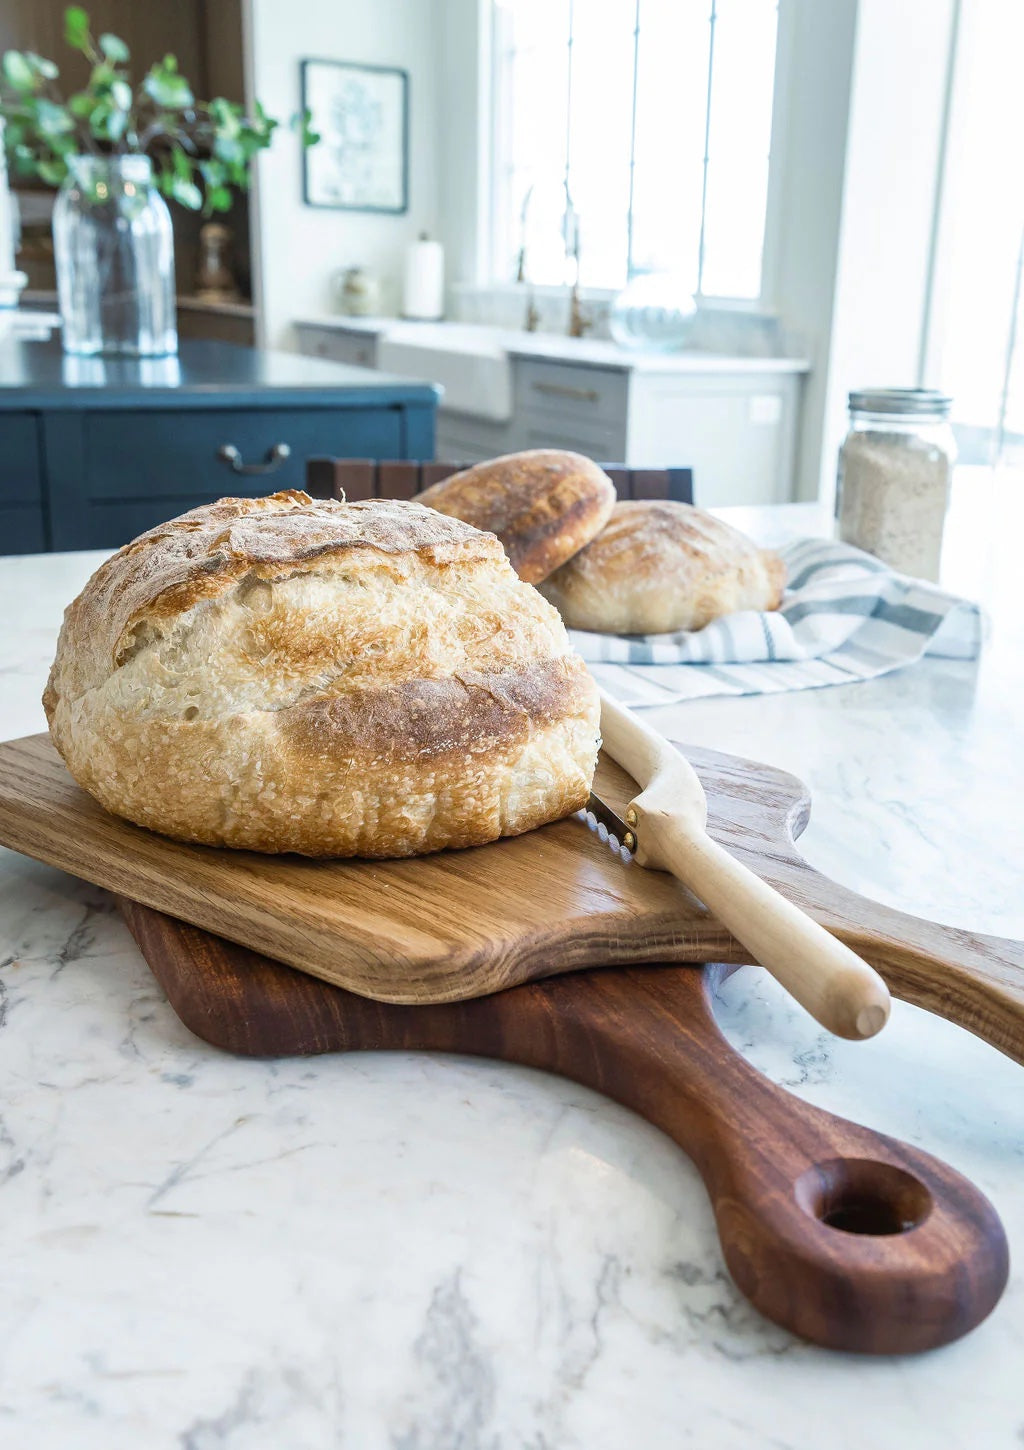
[[[220,499],[107,560],[44,696],[75,780],[184,841],[416,856],[586,803],[599,705],[497,539],[418,503]]]

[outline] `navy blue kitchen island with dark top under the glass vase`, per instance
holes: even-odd
[[[0,554],[116,548],[223,494],[302,489],[312,457],[432,458],[438,396],[226,342],[170,358],[0,342]]]

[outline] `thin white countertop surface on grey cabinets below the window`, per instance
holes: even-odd
[[[331,332],[358,332],[387,336],[403,344],[444,344],[454,351],[512,357],[550,358],[580,367],[608,367],[629,373],[806,373],[806,358],[732,357],[724,352],[632,352],[602,338],[570,338],[560,332],[525,332],[479,322],[410,322],[405,318],[350,318],[345,313],[319,313],[296,318],[296,328],[326,328]]]

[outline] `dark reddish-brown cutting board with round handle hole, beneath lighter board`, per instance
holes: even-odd
[[[669,1134],[699,1169],[737,1286],[830,1348],[909,1354],[966,1334],[1002,1293],[992,1205],[920,1148],[769,1083],[709,1006],[728,967],[550,977],[471,1002],[355,996],[120,900],[178,1016],[235,1053],[474,1053],[586,1083]]]

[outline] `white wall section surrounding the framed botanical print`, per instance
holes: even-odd
[[[273,116],[300,109],[299,62],[363,61],[409,71],[409,210],[405,216],[310,207],[302,148],[281,126],[257,162],[255,273],[264,347],[290,348],[296,318],[335,310],[331,278],[363,264],[397,310],[406,245],[438,220],[437,13],[442,0],[248,0],[248,84]]]

